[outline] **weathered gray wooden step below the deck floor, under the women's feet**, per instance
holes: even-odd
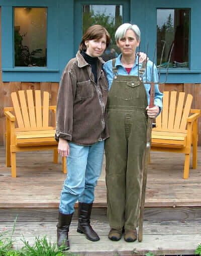
[[[173,209],[175,212],[178,209]],[[97,242],[91,242],[83,234],[76,232],[77,212],[73,215],[70,225],[69,252],[80,256],[131,256],[145,255],[148,251],[157,255],[194,254],[194,250],[201,239],[201,215],[199,209],[180,209],[175,220],[161,220],[161,209],[147,212],[147,220],[143,226],[143,241],[128,243],[124,238],[118,242],[108,239],[110,231],[105,208],[92,209],[91,225],[100,237]],[[158,213],[157,213],[158,212]],[[184,214],[185,213],[185,214]],[[51,243],[56,242],[56,224],[58,211],[55,209],[0,209],[0,232],[13,229],[14,219],[18,214],[16,228],[13,235],[14,248],[21,248],[23,240],[29,245],[35,243],[36,237],[46,236]],[[183,215],[184,214],[184,215]],[[180,216],[180,219],[179,219]],[[184,219],[182,219],[184,217]]]

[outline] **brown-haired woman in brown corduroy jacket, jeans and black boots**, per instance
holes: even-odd
[[[93,25],[82,37],[75,58],[66,65],[59,85],[56,135],[58,152],[67,159],[61,191],[57,245],[69,249],[68,231],[78,200],[77,232],[99,240],[90,226],[94,187],[102,170],[104,141],[109,137],[106,105],[108,81],[99,58],[110,43],[108,31]]]

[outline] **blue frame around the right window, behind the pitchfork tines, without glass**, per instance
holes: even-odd
[[[199,13],[201,11],[200,3],[198,3],[198,0],[195,0],[192,2],[185,2],[184,1],[174,1],[169,0],[168,3],[161,3],[160,0],[153,0],[147,1],[146,8],[145,8],[145,24],[146,26],[146,32],[145,37],[146,41],[148,41],[149,38],[155,39],[149,41],[149,49],[150,53],[149,56],[153,56],[153,49],[155,47],[154,43],[156,42],[157,38],[157,9],[176,9],[176,8],[188,8],[190,9],[190,20],[189,20],[189,68],[188,69],[169,69],[169,76],[171,74],[180,74],[178,77],[183,77],[184,74],[199,74],[201,73],[201,62],[199,60],[199,52],[197,37],[199,34],[199,29],[196,24],[200,24],[200,18]],[[194,3],[197,2],[197,3]],[[198,5],[199,4],[199,5]],[[199,8],[197,8],[199,6]],[[155,27],[155,30],[153,31],[153,28]],[[193,61],[192,61],[193,60]],[[164,75],[166,73],[166,69],[161,69],[162,78],[164,78]],[[172,77],[172,76],[171,76]],[[168,79],[169,80],[169,79]],[[174,79],[175,80],[175,79]]]

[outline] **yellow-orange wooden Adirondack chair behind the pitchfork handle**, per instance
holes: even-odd
[[[184,153],[183,178],[189,176],[189,164],[192,145],[192,168],[197,168],[197,118],[199,109],[190,109],[192,95],[180,92],[176,106],[177,92],[164,92],[163,110],[156,118],[156,127],[152,130],[151,150]],[[184,105],[184,107],[183,107]],[[192,115],[189,115],[192,113]],[[186,129],[187,125],[187,129]]]

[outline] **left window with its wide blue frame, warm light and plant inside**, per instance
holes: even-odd
[[[0,1],[3,81],[59,81],[57,1]]]

